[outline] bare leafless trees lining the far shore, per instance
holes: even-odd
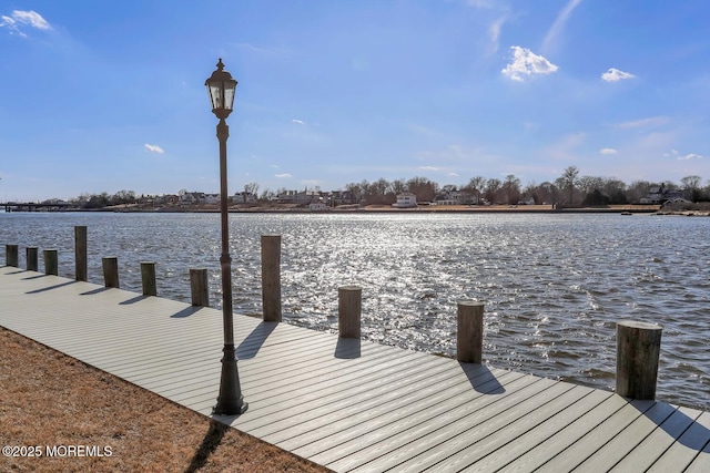
[[[567,167],[554,182],[546,181],[540,184],[530,182],[525,186],[513,174],[505,178],[486,178],[474,176],[464,185],[438,183],[427,177],[412,177],[409,179],[387,181],[379,178],[374,182],[362,181],[345,185],[345,191],[351,193],[356,202],[366,205],[390,205],[397,200],[397,195],[412,193],[417,202],[433,202],[436,198],[459,192],[473,197],[474,202],[488,202],[491,204],[518,204],[532,202],[535,204],[561,204],[602,206],[613,204],[638,204],[653,189],[662,186],[665,193],[681,195],[691,202],[710,202],[710,183],[702,185],[700,176],[691,175],[680,179],[680,184],[670,181],[651,183],[648,181],[635,181],[631,184],[616,177],[579,175],[576,166]],[[258,196],[261,202],[270,202],[285,188],[272,192],[265,189]],[[320,192],[320,187],[314,189]],[[181,191],[184,193],[185,191]],[[256,195],[258,184],[251,182],[244,186],[244,192]],[[119,191],[113,195],[81,194],[70,202],[82,208],[102,208],[112,205],[145,203],[151,196],[136,196],[133,191]]]

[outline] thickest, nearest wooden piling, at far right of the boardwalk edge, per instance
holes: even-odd
[[[617,323],[617,394],[653,400],[661,332],[658,323],[622,320]]]

